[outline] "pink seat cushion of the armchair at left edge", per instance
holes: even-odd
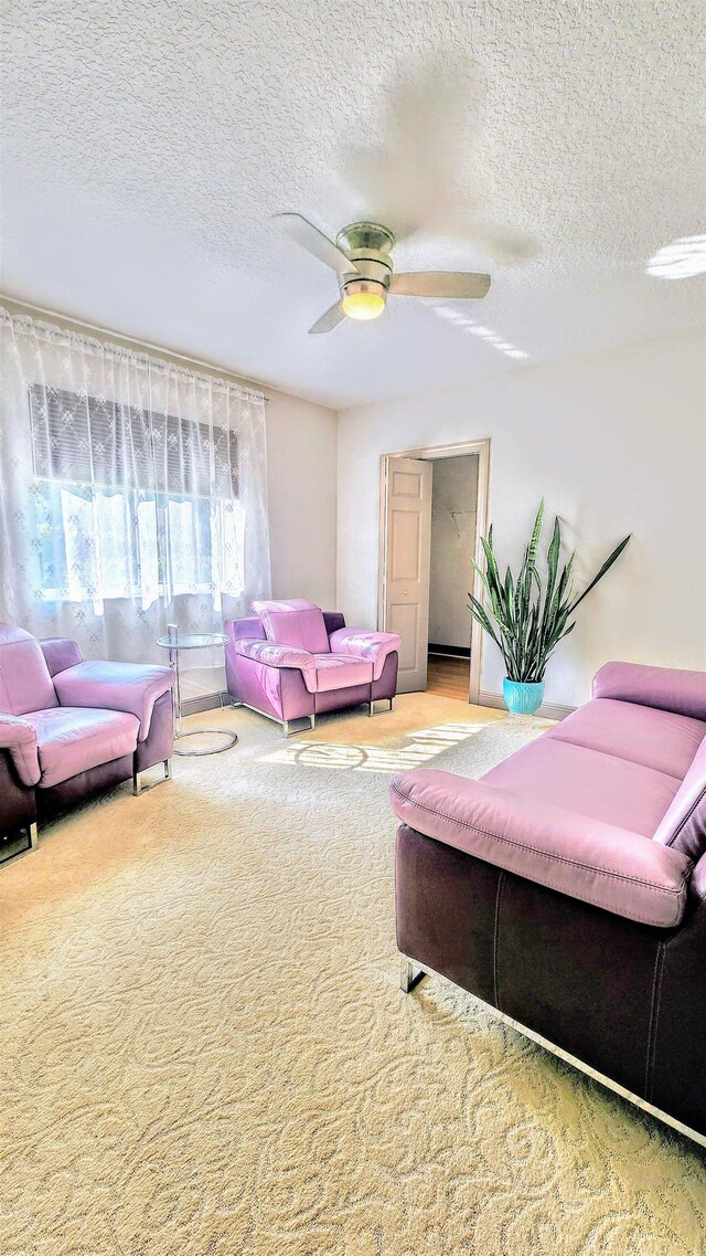
[[[25,718],[36,730],[40,789],[122,759],[137,747],[139,720],[123,711],[53,707],[28,712]]]

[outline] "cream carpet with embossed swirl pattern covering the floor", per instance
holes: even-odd
[[[703,1158],[441,980],[391,772],[543,725],[434,696],[174,760],[0,874],[3,1256],[697,1256]]]

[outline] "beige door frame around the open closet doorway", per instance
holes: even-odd
[[[490,437],[482,437],[478,441],[461,441],[458,445],[426,445],[415,450],[395,450],[390,453],[380,455],[380,506],[379,506],[379,549],[377,549],[377,631],[385,632],[385,592],[387,573],[385,570],[385,555],[387,553],[387,482],[390,458],[421,458],[425,462],[436,462],[438,458],[458,458],[468,453],[478,456],[478,502],[475,512],[475,561],[480,565],[483,560],[483,546],[480,538],[488,530],[488,494],[490,487]],[[482,597],[482,584],[478,571],[473,573],[473,594]],[[480,698],[480,669],[483,663],[483,638],[484,632],[479,623],[470,615],[470,667],[468,679],[468,701],[478,706]]]

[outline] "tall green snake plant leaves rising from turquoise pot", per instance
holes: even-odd
[[[598,574],[577,597],[572,588],[573,554],[559,571],[562,525],[558,519],[554,519],[554,530],[547,550],[545,574],[538,570],[537,556],[543,521],[544,501],[540,501],[519,571],[513,577],[508,566],[504,579],[498,566],[490,526],[488,536],[480,538],[485,570],[478,563],[473,564],[485,597],[480,600],[473,593],[468,595],[472,615],[493,638],[505,661],[508,679],[525,683],[544,679],[549,656],[576,627],[576,619],[572,619],[576,608],[598,580],[603,579],[630,540],[630,536],[626,536],[619,545],[616,545]]]

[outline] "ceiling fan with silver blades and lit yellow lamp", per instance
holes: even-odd
[[[332,332],[345,318],[377,318],[387,296],[480,299],[490,288],[490,275],[460,270],[420,270],[395,274],[391,251],[394,232],[379,222],[351,222],[329,240],[301,214],[278,214],[292,240],[319,257],[339,276],[339,300],[310,327],[310,335]]]

